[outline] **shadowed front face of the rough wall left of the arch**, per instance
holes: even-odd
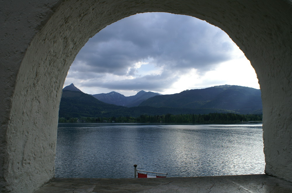
[[[41,29],[43,24],[53,14],[58,6],[57,1],[0,1],[0,190],[1,192],[12,191],[12,183],[7,180],[7,174],[15,176],[13,183],[21,179],[18,168],[10,170],[8,162],[13,159],[11,152],[16,147],[8,150],[8,124],[10,121],[12,96],[17,84],[17,74],[22,59],[33,37]],[[13,123],[14,124],[14,123]],[[24,140],[22,133],[14,131]],[[19,139],[11,139],[18,142]],[[23,149],[21,147],[20,149]],[[24,152],[23,152],[24,153]],[[20,157],[22,157],[20,155]],[[28,173],[29,171],[27,171]],[[29,176],[25,176],[29,181]],[[23,180],[22,180],[23,181]],[[26,191],[24,191],[26,192]]]

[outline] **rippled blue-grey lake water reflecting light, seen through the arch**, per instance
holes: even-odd
[[[264,173],[262,124],[63,123],[55,177],[133,178],[138,169],[177,176]]]

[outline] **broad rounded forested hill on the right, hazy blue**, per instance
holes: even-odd
[[[214,108],[242,114],[259,113],[259,110],[263,108],[259,89],[235,85],[213,86],[204,89],[186,90],[172,95],[154,96],[145,100],[139,106]]]

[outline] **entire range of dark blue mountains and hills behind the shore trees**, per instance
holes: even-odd
[[[140,91],[134,96],[125,97],[113,91],[97,94],[97,96],[111,103],[123,103],[124,106],[102,102],[94,95],[83,93],[71,84],[63,88],[59,117],[138,117],[141,114],[208,114],[213,112],[262,113],[260,90],[235,85],[186,90],[172,95]],[[136,104],[135,107],[132,106],[134,104]],[[132,107],[126,107],[126,105]]]

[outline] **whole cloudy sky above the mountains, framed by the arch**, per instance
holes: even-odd
[[[108,25],[77,54],[64,87],[125,96],[180,93],[224,84],[259,89],[250,61],[229,36],[205,21],[140,13]]]

